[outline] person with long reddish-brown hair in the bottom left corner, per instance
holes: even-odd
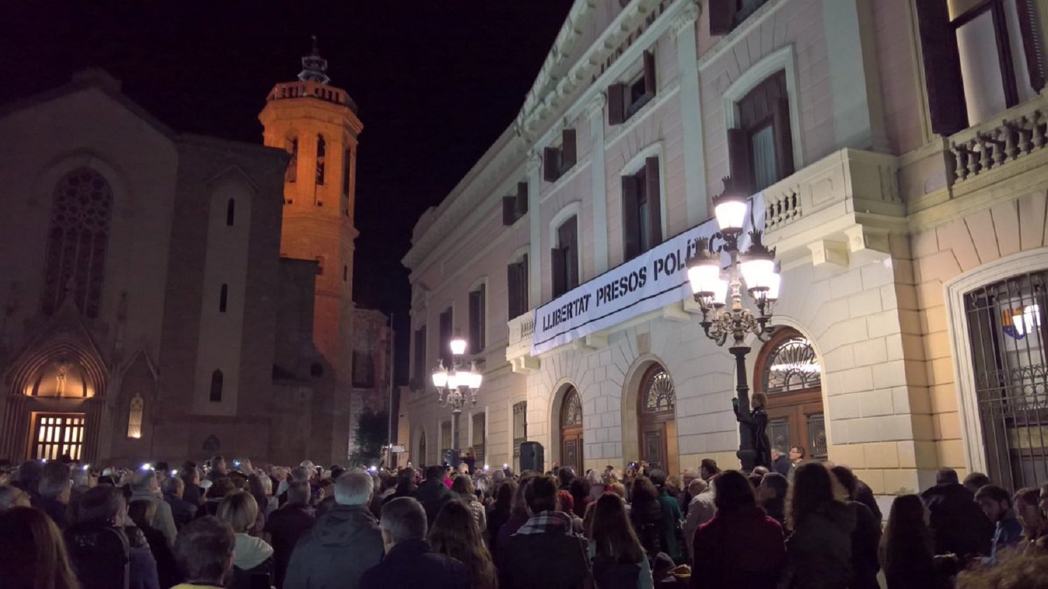
[[[62,532],[43,511],[27,505],[0,510],[0,586],[80,589]]]

